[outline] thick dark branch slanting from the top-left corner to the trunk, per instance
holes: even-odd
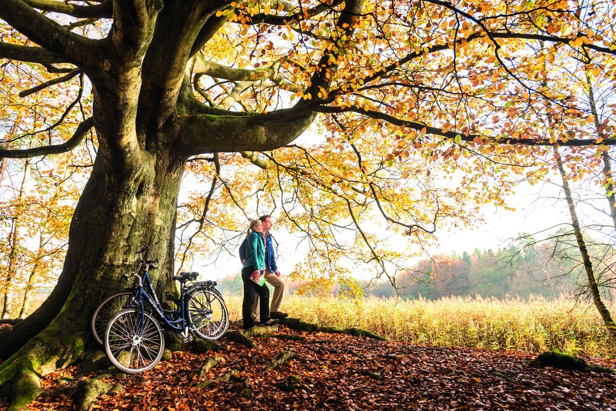
[[[76,35],[22,0],[1,1],[0,18],[34,43],[84,70],[99,65],[99,55],[95,52],[98,40]]]

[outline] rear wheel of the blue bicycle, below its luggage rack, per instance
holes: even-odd
[[[222,296],[201,287],[187,296],[188,327],[203,340],[219,340],[229,328],[229,312]]]

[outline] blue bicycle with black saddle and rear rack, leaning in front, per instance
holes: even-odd
[[[190,333],[203,340],[219,340],[229,328],[229,312],[216,282],[195,282],[198,272],[181,272],[174,277],[180,283],[177,307],[165,310],[148,274],[156,268],[156,261],[141,261],[141,275],[140,271],[124,274],[134,277],[134,291],[128,306],[111,316],[102,338],[111,364],[129,374],[158,364],[164,351],[163,328],[175,331],[184,340],[192,338]]]

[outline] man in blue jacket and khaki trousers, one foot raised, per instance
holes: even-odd
[[[272,216],[265,215],[259,217],[263,222],[263,242],[265,244],[265,281],[270,283],[274,287],[274,295],[272,295],[272,303],[270,305],[270,318],[282,319],[288,314],[280,311],[282,304],[282,298],[285,294],[285,280],[280,277],[280,271],[276,265],[276,256],[274,254],[274,241],[269,230],[274,225],[272,223]],[[254,299],[253,303],[253,319],[256,319],[259,308],[259,296]]]

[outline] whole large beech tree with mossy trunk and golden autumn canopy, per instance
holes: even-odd
[[[44,129],[3,119],[0,157],[67,152],[94,132],[97,141],[57,286],[0,333],[2,392],[20,407],[40,392],[39,375],[91,350],[101,290],[122,287],[142,246],[160,260],[158,290],[171,287],[180,181],[195,156],[211,153],[218,175],[241,153],[293,176],[290,189],[325,187],[354,222],[371,206],[412,237],[456,208],[430,190],[418,201],[436,211],[400,206],[391,182],[430,174],[408,158],[467,173],[453,203],[498,202],[506,165],[531,165],[546,145],[614,144],[575,131],[589,113],[557,81],[580,61],[614,81],[615,10],[611,0],[0,1],[0,57],[13,80],[4,89],[75,89],[67,105],[49,104],[57,112]],[[17,81],[32,73],[38,86]],[[573,125],[548,134],[534,116],[548,108]],[[277,149],[317,119],[331,132],[325,157],[287,147],[281,161]],[[289,163],[289,152],[305,161]],[[348,153],[350,166],[334,166]],[[319,174],[330,168],[339,173]],[[474,185],[485,191],[469,195]],[[378,262],[375,239],[360,237]]]

